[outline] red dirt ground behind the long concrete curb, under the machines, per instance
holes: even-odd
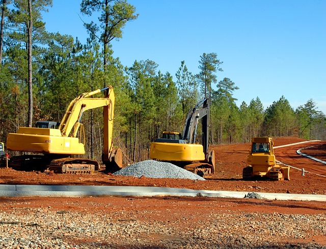
[[[305,140],[295,137],[276,138],[274,139],[274,146],[303,141]],[[194,180],[184,179],[114,176],[104,172],[99,172],[95,175],[51,174],[0,168],[0,184],[164,186],[196,190],[326,195],[326,165],[296,153],[297,149],[318,145],[317,147],[302,149],[302,152],[315,155],[315,157],[326,161],[325,144],[325,141],[315,141],[275,148],[278,161],[297,168],[291,168],[290,181],[243,181],[242,169],[246,167],[247,154],[250,149],[250,144],[248,143],[211,146],[211,149],[215,151],[216,167],[214,175],[206,181],[195,182]],[[316,148],[316,151],[313,148]],[[309,173],[305,173],[305,176],[302,176],[302,168]]]

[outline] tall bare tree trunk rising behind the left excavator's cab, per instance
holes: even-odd
[[[33,72],[32,72],[32,30],[33,30],[33,17],[32,17],[32,3],[29,3],[29,24],[28,24],[28,85],[29,85],[29,127],[33,124]]]

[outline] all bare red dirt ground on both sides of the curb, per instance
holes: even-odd
[[[305,142],[305,143],[298,143]],[[298,144],[293,144],[298,143]],[[114,176],[99,172],[95,175],[53,174],[49,172],[24,172],[10,168],[0,168],[0,184],[50,184],[50,185],[121,185],[121,186],[164,186],[194,190],[244,191],[290,194],[326,195],[326,165],[305,158],[296,151],[312,155],[326,161],[326,141],[306,141],[296,137],[274,138],[274,146],[293,144],[275,148],[276,159],[294,168],[290,169],[290,180],[242,180],[242,169],[250,144],[214,145],[215,173],[205,181],[185,179],[156,179],[142,177]],[[302,175],[302,168],[305,175]],[[281,213],[281,214],[325,214],[326,203],[316,201],[279,201],[259,199],[228,199],[204,197],[87,197],[87,198],[40,198],[40,197],[0,197],[0,211],[14,208],[44,208],[67,210],[69,212],[105,213],[103,209],[110,203],[116,212],[132,212],[133,218],[144,220],[171,220],[191,217],[192,223],[200,222],[201,213]],[[147,212],[137,215],[137,210]],[[169,210],[168,212],[166,210]],[[171,211],[172,210],[172,211]],[[171,224],[176,224],[171,222]],[[184,223],[185,226],[186,223]],[[326,235],[325,235],[326,236]],[[311,241],[326,246],[325,236],[311,237]],[[303,242],[296,239],[292,242]]]

